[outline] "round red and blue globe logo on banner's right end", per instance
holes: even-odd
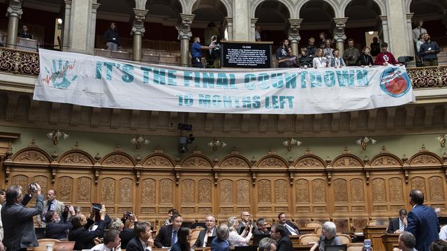
[[[389,67],[380,76],[381,90],[394,98],[404,96],[411,88],[411,80],[405,70]]]

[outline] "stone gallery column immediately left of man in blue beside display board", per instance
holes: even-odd
[[[177,23],[179,31],[178,40],[180,40],[180,61],[182,66],[189,66],[189,40],[193,34],[191,33],[191,24],[193,23],[193,14],[180,14],[180,20]]]

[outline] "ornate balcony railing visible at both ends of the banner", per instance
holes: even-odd
[[[39,74],[39,54],[0,47],[0,71],[35,75]],[[447,66],[406,68],[413,89],[447,87]]]

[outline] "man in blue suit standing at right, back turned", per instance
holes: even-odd
[[[424,206],[424,194],[420,190],[411,190],[410,205],[413,209],[404,222],[408,222],[405,231],[416,237],[416,250],[428,251],[430,244],[436,241],[439,233],[439,222],[430,206]]]

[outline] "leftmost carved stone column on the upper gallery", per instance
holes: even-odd
[[[19,20],[22,17],[23,0],[10,0],[6,17],[8,20],[8,38],[6,39],[6,47],[15,49],[17,45],[17,33],[19,29]]]

